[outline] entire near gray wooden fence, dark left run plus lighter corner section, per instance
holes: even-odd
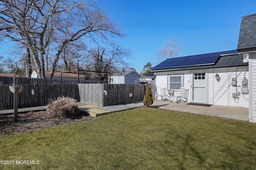
[[[18,108],[43,106],[48,99],[62,96],[101,107],[135,103],[144,100],[146,86],[151,87],[154,99],[155,84],[26,84],[18,94]],[[0,85],[0,109],[13,108],[13,100],[9,85]]]

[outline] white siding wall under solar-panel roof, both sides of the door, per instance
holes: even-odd
[[[256,58],[256,55],[255,55]],[[256,60],[255,60],[256,68]],[[192,70],[192,71],[165,71],[156,73],[156,88],[158,93],[160,89],[166,87],[168,90],[168,76],[169,75],[183,75],[183,85],[189,90],[188,102],[192,102],[192,82],[194,72],[206,72],[207,81],[207,104],[212,105],[223,105],[223,106],[235,106],[235,107],[246,107],[249,106],[249,95],[242,94],[242,79],[244,79],[244,73],[246,79],[249,79],[248,67],[232,67],[232,68],[221,68],[221,69],[208,69],[208,70]],[[215,78],[216,73],[220,76],[218,82]],[[237,78],[237,86],[232,86],[232,78]],[[256,86],[256,70],[255,70],[255,86]],[[239,99],[234,100],[232,93],[240,92]],[[249,92],[250,94],[250,92]],[[256,102],[256,91],[255,91],[255,102]],[[254,102],[254,103],[255,103]],[[255,112],[256,114],[256,112]]]

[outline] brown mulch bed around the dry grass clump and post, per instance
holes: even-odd
[[[18,114],[18,121],[14,123],[14,115],[0,116],[0,136],[24,133],[31,130],[54,127],[71,122],[93,119],[88,113],[82,112],[79,117],[58,119],[49,117],[45,111]]]

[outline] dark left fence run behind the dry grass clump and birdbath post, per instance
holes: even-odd
[[[31,90],[34,90],[32,95]],[[18,108],[43,106],[48,104],[48,99],[68,96],[80,101],[77,84],[27,84],[22,85],[18,94]],[[9,90],[9,85],[0,85],[0,109],[13,108],[14,94]]]

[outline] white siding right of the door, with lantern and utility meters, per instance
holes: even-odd
[[[219,82],[215,78],[217,73],[220,76]],[[210,69],[208,72],[208,104],[248,108],[249,95],[241,92],[244,73],[246,79],[249,79],[248,67]],[[236,78],[236,87],[232,86],[232,78]],[[240,92],[240,95],[239,99],[234,100],[232,93],[236,92]]]

